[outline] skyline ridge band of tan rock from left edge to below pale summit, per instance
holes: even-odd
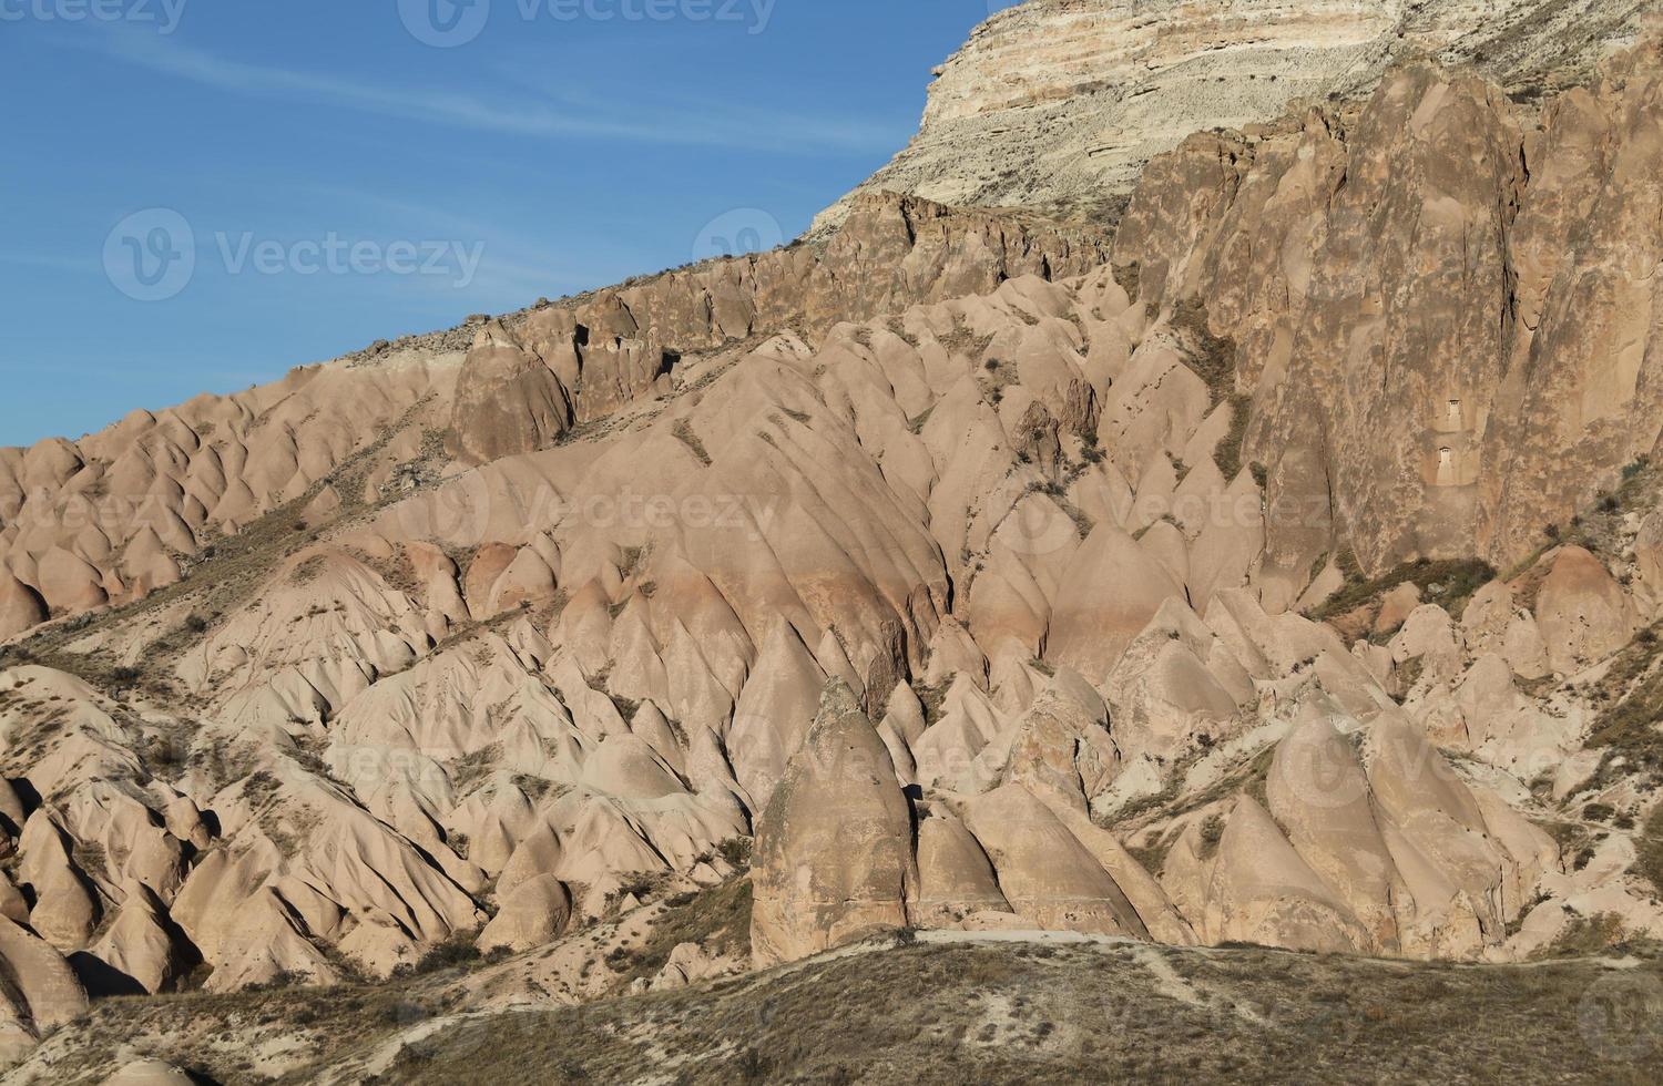
[[[878,193],[830,243],[718,259],[484,324],[386,344],[228,397],[135,412],[80,442],[0,449],[0,640],[180,580],[220,534],[308,499],[351,512],[419,491],[442,452],[486,464],[680,391],[683,354],[820,338],[1021,276],[1101,266],[1103,230]],[[471,348],[469,348],[471,343]],[[466,354],[464,354],[466,353]],[[1061,406],[1059,406],[1061,409]],[[391,437],[386,436],[391,432]],[[351,487],[321,481],[361,457]],[[414,529],[456,529],[429,509]],[[22,589],[15,587],[22,585]],[[15,627],[15,629],[13,629]]]

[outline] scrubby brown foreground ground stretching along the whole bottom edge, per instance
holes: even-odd
[[[32,1068],[62,1083],[100,1081],[111,1061],[138,1056],[223,1083],[269,1081],[276,1066],[296,1083],[1663,1076],[1655,948],[1472,966],[936,931],[582,1006],[446,1009],[431,1000],[444,985],[106,1001],[48,1039]]]

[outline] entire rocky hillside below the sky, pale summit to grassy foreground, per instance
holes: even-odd
[[[1019,113],[1019,191],[0,449],[8,1081],[1646,1078],[1663,42],[1137,10],[950,62],[903,161]]]

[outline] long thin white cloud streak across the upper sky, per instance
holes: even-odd
[[[895,146],[893,133],[881,126],[835,118],[757,110],[677,113],[659,105],[597,111],[592,105],[562,103],[547,91],[530,88],[486,100],[451,90],[381,86],[329,73],[228,60],[155,35],[101,33],[81,38],[88,40],[115,60],[215,90],[344,106],[472,131],[792,153],[868,153]]]

